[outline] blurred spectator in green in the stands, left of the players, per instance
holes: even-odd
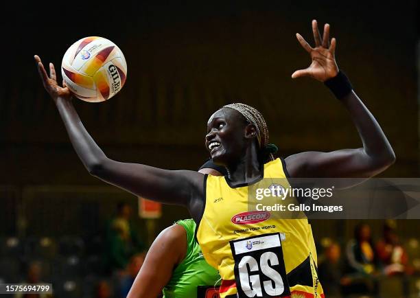
[[[123,271],[130,257],[143,251],[144,245],[135,231],[131,218],[131,207],[119,203],[117,216],[110,220],[106,231],[105,260],[108,273],[114,270]]]

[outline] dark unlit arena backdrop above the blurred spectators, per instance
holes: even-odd
[[[397,162],[381,176],[419,177],[416,1],[13,5],[0,21],[7,69],[0,84],[0,237],[2,246],[10,237],[21,243],[13,257],[19,260],[19,278],[25,275],[28,239],[47,236],[60,243],[63,236],[78,236],[89,247],[92,239],[100,241],[117,203],[129,203],[137,214],[137,198],[84,169],[38,78],[34,54],[59,69],[67,47],[84,36],[114,41],[128,63],[126,85],[115,98],[102,104],[75,100],[97,144],[120,161],[196,170],[207,158],[207,119],[229,102],[259,108],[283,157],[360,146],[349,115],[323,84],[290,78],[310,62],[294,34],[312,43],[311,20],[328,22],[338,42],[339,67],[395,150]],[[163,206],[154,224],[135,221],[141,238],[150,242],[174,220],[188,217],[182,207]],[[314,237],[345,244],[358,223],[318,220]],[[369,221],[374,239],[382,236],[383,224]],[[147,233],[146,225],[155,233]],[[397,231],[404,241],[420,240],[419,220],[399,220]],[[83,284],[83,276],[75,279]],[[413,285],[411,295],[418,295]]]

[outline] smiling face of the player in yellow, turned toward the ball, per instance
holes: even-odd
[[[244,117],[233,108],[222,108],[207,122],[205,146],[218,165],[237,162],[246,146]]]

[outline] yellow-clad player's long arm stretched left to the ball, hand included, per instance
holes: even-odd
[[[54,65],[49,64],[48,76],[40,58],[35,56],[35,60],[44,87],[58,108],[71,144],[89,173],[132,194],[162,203],[189,207],[191,198],[203,196],[204,175],[198,172],[162,170],[137,163],[122,163],[106,157],[84,128],[71,102],[69,89],[57,84]]]

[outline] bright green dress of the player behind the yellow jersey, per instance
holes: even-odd
[[[196,222],[192,219],[179,220],[178,225],[187,231],[187,253],[183,262],[176,266],[172,278],[163,288],[165,298],[201,298],[197,295],[198,286],[200,292],[205,292],[208,286],[213,290],[220,285],[220,276],[215,268],[211,267],[202,256],[200,246],[194,237]],[[204,297],[204,296],[202,296]]]

